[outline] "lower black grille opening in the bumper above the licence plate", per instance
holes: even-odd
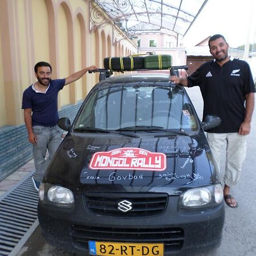
[[[110,242],[164,243],[167,250],[180,250],[184,232],[181,228],[102,228],[96,226],[73,225],[73,241],[80,246],[88,246],[89,240]]]

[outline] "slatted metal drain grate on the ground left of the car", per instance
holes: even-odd
[[[16,255],[38,226],[38,192],[31,172],[0,197],[0,255]]]

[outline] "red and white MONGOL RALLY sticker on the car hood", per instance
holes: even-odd
[[[89,168],[163,171],[166,169],[166,155],[142,148],[123,147],[108,152],[96,152]]]

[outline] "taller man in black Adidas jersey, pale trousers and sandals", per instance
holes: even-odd
[[[241,177],[246,135],[250,133],[254,109],[255,86],[246,61],[228,55],[229,46],[224,36],[211,36],[209,48],[213,61],[204,63],[189,77],[171,76],[170,80],[188,87],[200,86],[204,100],[203,119],[206,115],[221,118],[221,125],[208,130],[207,138],[219,169],[221,150],[227,143],[224,199],[229,207],[236,208],[237,201],[229,192]]]

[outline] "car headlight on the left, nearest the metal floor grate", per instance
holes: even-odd
[[[73,193],[71,190],[60,187],[52,186],[47,192],[48,200],[56,204],[73,204],[75,202]]]

